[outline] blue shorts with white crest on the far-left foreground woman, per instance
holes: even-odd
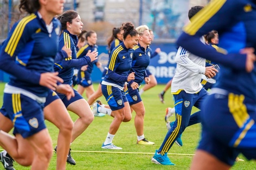
[[[43,103],[38,103],[21,94],[4,93],[4,105],[1,112],[8,114],[14,124],[13,134],[21,134],[23,138],[32,136],[46,128],[44,122]]]

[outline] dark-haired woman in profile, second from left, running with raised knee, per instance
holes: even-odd
[[[59,72],[58,76],[64,80],[65,84],[69,84],[71,86],[74,67],[81,67],[96,60],[97,52],[89,51],[86,56],[83,56],[80,59],[76,59],[76,45],[78,42],[77,35],[81,33],[83,27],[81,18],[76,11],[68,10],[60,15],[58,19],[62,24],[62,34],[60,35],[59,45],[61,47],[67,45],[71,49],[72,55],[69,58],[55,63],[54,70]],[[79,116],[79,118],[74,123],[71,142],[73,142],[79,135],[81,135],[94,119],[92,110],[90,110],[86,100],[76,90],[74,90],[74,93],[75,97],[71,97],[70,100],[68,100],[62,93],[58,93],[58,96],[60,99],[62,99],[66,108]],[[75,160],[72,159],[70,152],[67,161],[72,165],[76,164]]]

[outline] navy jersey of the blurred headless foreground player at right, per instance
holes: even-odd
[[[233,8],[229,8],[230,5]],[[203,58],[221,64],[216,87],[256,100],[256,67],[252,73],[245,71],[245,47],[256,49],[256,4],[253,0],[212,1],[191,18],[190,24],[178,39],[178,45]],[[201,17],[202,16],[202,17]],[[220,19],[221,18],[221,19]],[[218,30],[220,50],[199,42],[199,37]],[[223,54],[224,53],[224,54]],[[225,53],[228,55],[225,55]]]

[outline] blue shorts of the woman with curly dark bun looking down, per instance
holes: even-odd
[[[123,90],[118,87],[101,85],[102,94],[105,96],[111,110],[124,108],[124,103],[128,102]]]

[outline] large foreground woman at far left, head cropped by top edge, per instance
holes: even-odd
[[[1,69],[11,75],[4,89],[2,109],[14,124],[15,137],[1,130],[0,143],[18,163],[31,165],[31,169],[47,169],[52,156],[42,108],[49,89],[58,90],[57,81],[63,82],[58,73],[52,73],[60,31],[54,16],[62,13],[63,3],[60,0],[31,4],[22,0],[20,9],[31,15],[14,25],[1,51]],[[68,90],[63,88],[60,92],[70,98],[72,92]],[[68,123],[68,127],[72,129],[72,124]],[[66,133],[68,138],[69,134]]]

